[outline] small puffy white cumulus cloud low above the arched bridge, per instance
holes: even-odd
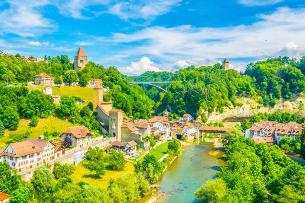
[[[148,57],[144,56],[138,62],[132,62],[131,66],[119,67],[118,70],[126,75],[141,75],[147,71],[160,72],[159,65],[153,63]]]

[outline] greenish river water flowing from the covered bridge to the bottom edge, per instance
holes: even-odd
[[[198,142],[198,140],[197,140]],[[191,143],[159,177],[161,195],[156,203],[196,203],[194,192],[208,180],[216,178],[223,161],[208,155],[209,143]]]

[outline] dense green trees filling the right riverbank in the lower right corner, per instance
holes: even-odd
[[[217,179],[195,192],[197,199],[208,203],[304,202],[304,166],[277,145],[255,144],[244,136],[230,138],[225,151],[227,166]]]

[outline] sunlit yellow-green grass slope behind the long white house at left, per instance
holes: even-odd
[[[49,133],[54,131],[62,133],[67,128],[73,126],[73,124],[70,123],[67,119],[61,119],[55,116],[50,116],[48,118],[38,118],[38,125],[36,127],[29,127],[29,122],[29,119],[22,118],[20,119],[19,127],[17,130],[10,131],[6,129],[4,135],[0,136],[0,149],[3,149],[7,146],[7,142],[9,140],[8,135],[10,133],[21,133],[29,130],[31,138],[38,138],[39,135],[43,135],[45,131],[48,131]]]

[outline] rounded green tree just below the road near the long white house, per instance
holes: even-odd
[[[45,167],[36,168],[31,184],[41,194],[52,192],[55,187],[54,175]]]

